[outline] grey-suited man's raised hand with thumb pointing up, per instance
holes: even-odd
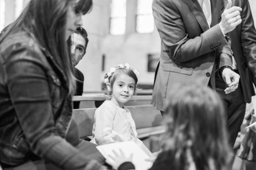
[[[221,14],[221,22],[219,23],[220,29],[223,34],[226,34],[236,28],[238,24],[242,22],[240,12],[242,8],[232,6],[231,0],[228,0],[228,4]]]

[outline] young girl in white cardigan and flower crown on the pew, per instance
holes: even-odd
[[[132,140],[150,152],[138,139],[131,112],[124,106],[135,94],[138,74],[126,63],[110,68],[105,75],[106,87],[112,99],[106,100],[95,111],[91,142],[102,145]]]

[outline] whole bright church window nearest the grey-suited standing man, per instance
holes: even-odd
[[[152,33],[154,31],[151,5],[152,0],[137,0],[136,31],[138,33]]]

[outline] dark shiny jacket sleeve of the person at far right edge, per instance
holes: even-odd
[[[256,31],[248,0],[242,0],[241,43],[243,57],[248,63],[254,85],[256,85]]]

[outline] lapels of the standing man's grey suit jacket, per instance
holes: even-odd
[[[183,0],[183,1],[186,2],[186,4],[189,6],[191,12],[195,16],[203,32],[207,31],[209,29],[209,25],[207,23],[204,12],[200,4],[198,3],[198,1],[197,0]],[[211,0],[211,6],[212,6],[212,1],[216,1],[216,0]]]

